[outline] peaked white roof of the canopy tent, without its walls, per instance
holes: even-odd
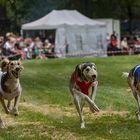
[[[104,26],[104,22],[92,20],[76,10],[53,10],[46,16],[22,25],[23,30],[57,29],[64,25],[69,26]]]

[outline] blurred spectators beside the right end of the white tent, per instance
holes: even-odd
[[[122,37],[120,44],[115,32],[111,36],[107,36],[107,53],[111,55],[131,55],[140,53],[140,37]]]

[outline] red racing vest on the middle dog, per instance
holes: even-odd
[[[82,93],[84,93],[85,95],[88,95],[88,91],[92,85],[92,82],[79,81],[77,78],[76,72],[72,74],[72,80],[80,88]]]

